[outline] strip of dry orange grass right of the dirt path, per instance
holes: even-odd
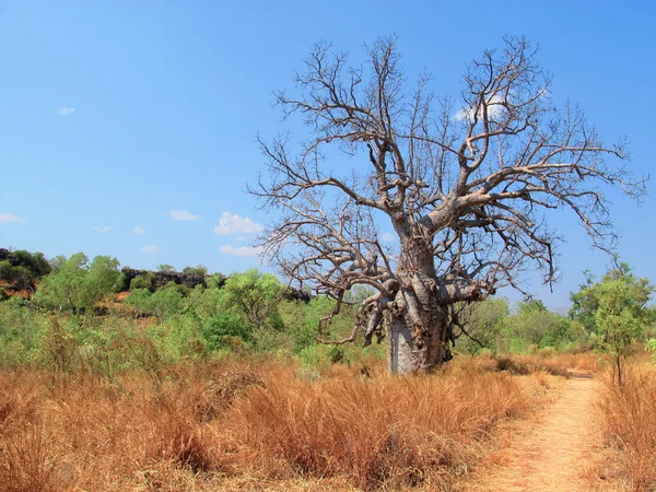
[[[621,452],[630,490],[656,488],[656,370],[629,366],[621,387],[606,382],[601,403],[607,433]]]

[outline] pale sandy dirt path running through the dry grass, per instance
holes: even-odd
[[[557,401],[537,422],[520,423],[508,446],[491,456],[466,490],[599,490],[591,465],[602,447],[594,408],[599,389],[599,383],[586,375],[567,379]]]

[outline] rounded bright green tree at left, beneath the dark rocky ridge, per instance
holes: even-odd
[[[118,266],[118,260],[108,256],[96,256],[89,263],[86,255],[78,253],[44,278],[35,298],[49,307],[80,313],[113,293]]]

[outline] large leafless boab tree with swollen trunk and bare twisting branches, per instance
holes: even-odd
[[[524,38],[471,62],[457,104],[434,97],[426,75],[407,89],[395,39],[368,55],[352,67],[315,46],[297,93],[276,94],[308,138],[260,139],[268,173],[250,191],[281,212],[261,246],[286,276],[333,296],[336,312],[350,289],[372,288],[351,337],[331,342],[387,337],[390,371],[429,372],[466,330],[456,306],[522,290],[527,268],[554,280],[548,210],[569,209],[608,248],[604,188],[637,198],[644,181],[622,165],[622,142],[604,144],[577,108],[554,107]]]

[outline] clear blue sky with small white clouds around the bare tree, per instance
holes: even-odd
[[[626,136],[652,171],[656,3],[0,1],[0,247],[84,251],[133,268],[203,263],[230,273],[271,218],[244,192],[263,171],[255,142],[289,129],[272,91],[292,87],[313,43],[364,55],[399,36],[408,77],[457,95],[465,63],[503,35],[526,35],[599,133]],[[293,129],[292,129],[293,130]],[[649,189],[652,186],[649,185]],[[656,206],[611,197],[619,253],[656,281]],[[563,280],[532,291],[569,304],[581,272],[609,263],[573,216],[552,225]]]

